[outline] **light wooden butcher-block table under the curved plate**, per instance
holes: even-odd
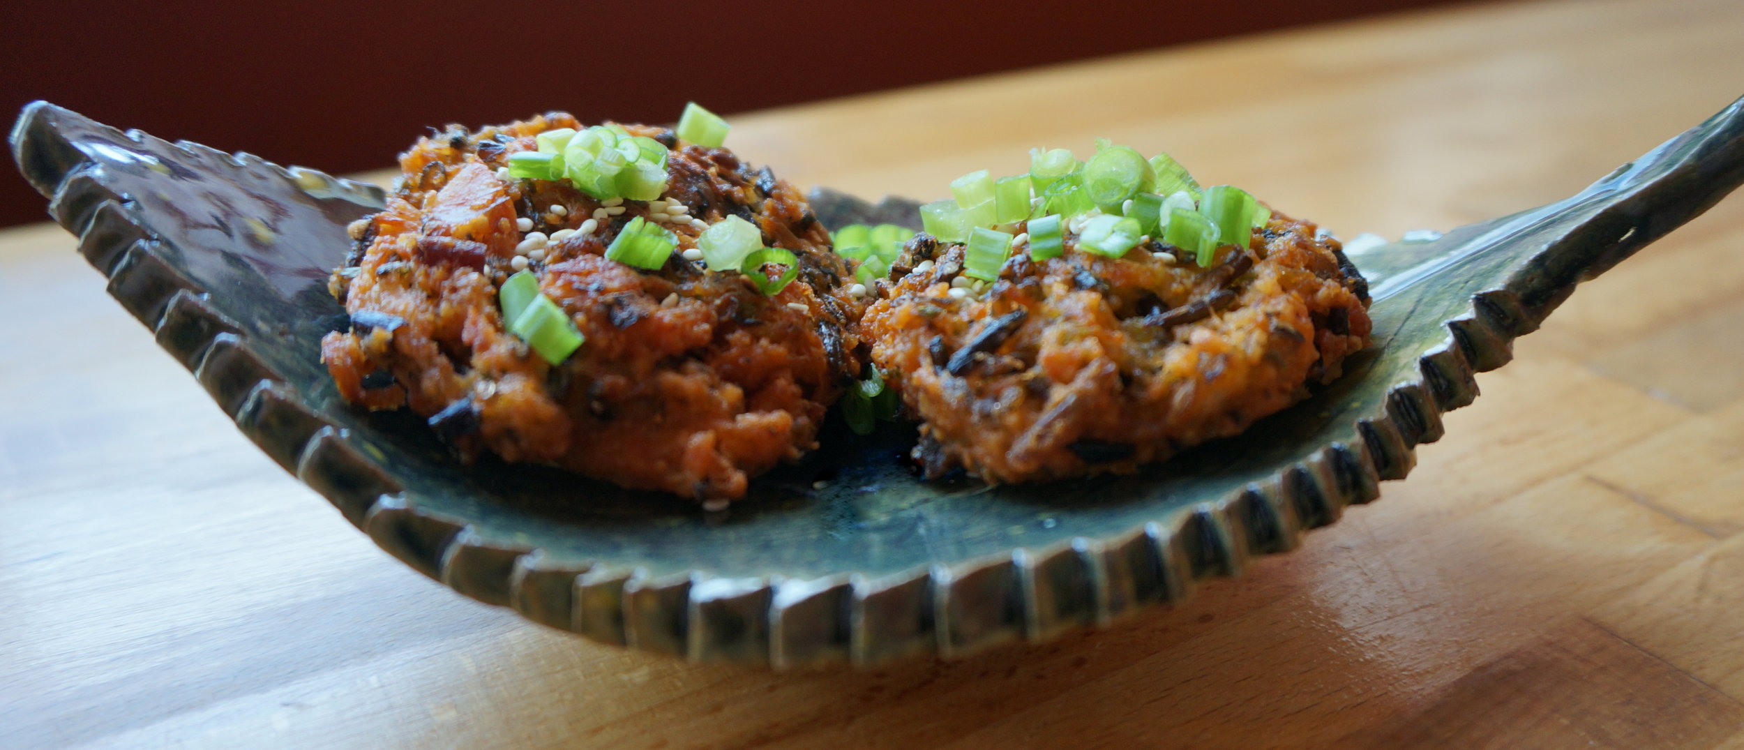
[[[741,115],[732,145],[937,197],[1109,136],[1397,235],[1568,195],[1739,73],[1737,0],[1474,5]],[[65,232],[5,230],[0,747],[1744,747],[1741,220],[1735,195],[1584,286],[1407,481],[1181,609],[795,675],[420,577],[242,440]]]

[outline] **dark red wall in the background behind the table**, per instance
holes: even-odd
[[[347,173],[389,166],[424,126],[670,122],[687,99],[734,113],[1435,2],[3,0],[0,112],[49,99]],[[3,169],[0,225],[44,206]]]

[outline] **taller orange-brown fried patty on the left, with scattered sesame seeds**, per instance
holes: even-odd
[[[406,406],[471,460],[490,450],[701,501],[741,497],[746,480],[816,447],[841,385],[860,372],[849,323],[863,303],[841,288],[842,258],[804,197],[724,148],[626,126],[673,148],[663,199],[706,223],[729,215],[799,258],[799,279],[764,297],[748,277],[684,260],[701,230],[666,223],[678,248],[659,270],[605,260],[607,244],[649,204],[624,201],[596,228],[546,248],[528,270],[586,337],[551,366],[504,330],[497,286],[523,232],[582,228],[602,202],[565,181],[514,180],[508,157],[534,134],[581,127],[549,113],[419,140],[401,155],[387,208],[354,225],[354,251],[331,290],[351,331],[323,340],[340,394],[368,408]]]

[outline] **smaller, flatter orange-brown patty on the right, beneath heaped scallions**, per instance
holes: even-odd
[[[1367,345],[1367,288],[1315,234],[1273,213],[1203,269],[1160,242],[1116,260],[1067,234],[1062,256],[1020,248],[964,297],[950,295],[963,246],[923,234],[860,335],[924,420],[914,457],[928,476],[1130,473],[1289,406]]]

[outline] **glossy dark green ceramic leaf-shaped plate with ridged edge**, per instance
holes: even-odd
[[[839,424],[729,513],[556,471],[448,460],[420,420],[338,399],[317,358],[344,310],[328,270],[370,185],[120,133],[35,103],[24,176],[110,293],[242,434],[408,565],[589,638],[778,668],[966,654],[1179,602],[1291,549],[1406,476],[1585,277],[1744,181],[1741,103],[1568,201],[1355,256],[1374,347],[1240,438],[1135,476],[987,488],[898,460],[912,429]],[[820,190],[818,215],[912,223],[912,204]],[[814,481],[823,481],[814,488]]]

